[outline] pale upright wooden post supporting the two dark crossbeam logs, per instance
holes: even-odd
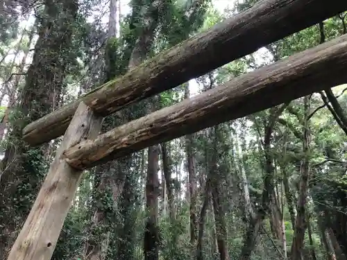
[[[99,134],[102,119],[80,103],[67,128],[49,173],[35,200],[8,260],[51,259],[67,211],[71,206],[82,171],[76,171],[62,158],[62,152],[83,139]]]

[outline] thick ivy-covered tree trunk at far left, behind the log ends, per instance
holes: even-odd
[[[0,241],[6,252],[0,252],[0,256],[6,256],[19,234],[46,173],[46,146],[28,147],[22,141],[22,129],[25,123],[48,114],[62,101],[64,78],[75,57],[71,41],[77,10],[78,3],[74,0],[46,0],[44,10],[37,14],[41,18],[39,37],[17,103],[17,116],[10,124],[8,147],[1,165]]]

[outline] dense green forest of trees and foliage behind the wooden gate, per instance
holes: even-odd
[[[24,126],[255,2],[0,2],[1,260],[61,141],[29,147]],[[346,15],[108,116],[103,132],[342,35]],[[345,88],[85,171],[53,259],[346,260]]]

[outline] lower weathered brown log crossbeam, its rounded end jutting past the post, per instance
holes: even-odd
[[[313,92],[346,83],[347,35],[233,78],[208,92],[165,107],[86,140],[64,152],[76,168],[237,119]]]

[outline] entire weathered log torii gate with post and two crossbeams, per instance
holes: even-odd
[[[31,145],[65,135],[8,260],[51,259],[83,169],[346,83],[344,35],[99,135],[103,116],[345,10],[345,0],[260,1],[27,125]]]

